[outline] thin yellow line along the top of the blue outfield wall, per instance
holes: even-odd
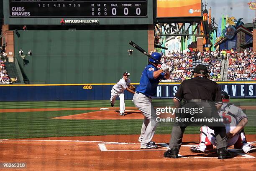
[[[218,84],[251,84],[256,83],[256,81],[248,81],[248,82],[217,82]],[[139,83],[131,83],[133,85],[138,85]],[[160,82],[160,85],[173,85],[173,84],[181,84],[181,82]],[[93,84],[0,84],[0,87],[7,87],[7,86],[85,86],[85,85],[115,85],[115,83],[93,83]]]

